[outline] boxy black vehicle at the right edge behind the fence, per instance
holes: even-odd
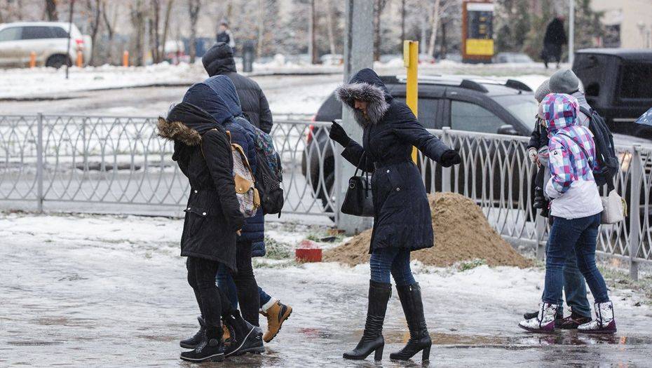
[[[573,71],[582,81],[586,100],[612,132],[645,135],[646,128],[634,121],[652,107],[652,50],[578,50]]]

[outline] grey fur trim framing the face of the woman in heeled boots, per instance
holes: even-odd
[[[383,89],[369,83],[344,84],[337,88],[336,95],[338,100],[344,102],[353,110],[355,121],[362,127],[377,124],[385,116],[387,109],[389,109],[389,104],[385,99]],[[368,102],[368,118],[365,118],[365,114],[362,114],[362,111],[354,108],[355,100]]]

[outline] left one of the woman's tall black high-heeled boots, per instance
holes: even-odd
[[[344,359],[365,359],[373,351],[374,360],[383,359],[383,322],[387,311],[387,302],[392,295],[392,284],[369,281],[369,306],[367,307],[367,322],[362,339],[355,349],[344,353]]]

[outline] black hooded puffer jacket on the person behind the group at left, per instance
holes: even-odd
[[[233,60],[233,49],[224,42],[213,45],[201,58],[204,69],[209,76],[218,74],[228,76],[238,91],[240,107],[247,120],[254,126],[269,134],[273,125],[269,103],[265,94],[254,80],[236,72],[236,62]]]

